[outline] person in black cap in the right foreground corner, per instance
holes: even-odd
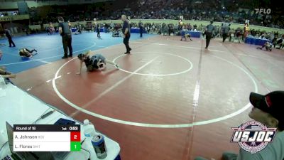
[[[274,91],[267,95],[259,95],[251,92],[249,100],[253,108],[249,113],[251,119],[265,124],[266,127],[277,128],[275,138],[266,148],[251,154],[249,151],[240,149],[239,155],[224,153],[224,160],[283,160],[284,159],[284,91]],[[195,160],[206,160],[197,157]]]

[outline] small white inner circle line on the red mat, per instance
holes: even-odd
[[[136,52],[136,53],[150,53],[150,52]],[[178,73],[169,73],[169,74],[135,73],[135,72],[131,72],[131,71],[129,71],[129,70],[124,70],[124,69],[122,69],[122,68],[119,68],[119,70],[124,71],[125,73],[131,73],[131,74],[133,74],[133,75],[148,75],[148,76],[157,76],[157,77],[160,76],[160,77],[163,77],[163,76],[180,75],[180,74],[183,74],[183,73],[187,73],[187,72],[189,72],[189,71],[192,69],[192,67],[193,67],[192,62],[191,62],[190,60],[188,60],[187,58],[184,58],[184,57],[182,57],[182,56],[180,56],[180,55],[175,55],[175,54],[173,54],[173,53],[160,53],[160,52],[151,52],[151,53],[158,53],[158,54],[165,54],[165,55],[173,55],[173,56],[176,56],[176,57],[178,57],[178,58],[182,58],[183,60],[185,60],[185,61],[187,61],[188,63],[190,63],[190,68],[187,68],[186,70],[183,70],[183,71],[178,72]],[[131,53],[131,54],[135,54],[135,53]],[[119,56],[117,56],[116,58],[114,58],[114,60],[112,60],[112,61],[115,63],[118,58],[121,58],[121,57],[123,57],[123,56],[129,56],[129,55],[119,55]]]

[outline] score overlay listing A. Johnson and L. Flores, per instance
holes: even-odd
[[[80,151],[80,124],[14,124],[13,151]]]

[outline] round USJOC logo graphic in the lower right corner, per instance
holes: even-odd
[[[249,121],[231,129],[234,131],[231,143],[239,143],[242,149],[251,154],[266,148],[268,143],[273,142],[276,134],[276,128],[268,128],[256,121]]]

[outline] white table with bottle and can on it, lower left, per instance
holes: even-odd
[[[32,124],[38,119],[43,112],[48,112],[53,110],[52,107],[48,106],[44,102],[41,102],[37,98],[29,95],[27,92],[19,89],[15,85],[8,84],[6,85],[6,96],[0,97],[0,134],[4,132],[4,136],[0,137],[0,147],[4,144],[4,142],[8,141],[8,137],[6,134],[6,121],[9,124]],[[72,119],[70,117],[65,116],[61,112],[54,112],[50,114],[50,116],[45,119],[40,119],[36,124],[54,124],[58,119]],[[72,119],[73,121],[76,121]],[[76,124],[79,124],[76,121]],[[81,124],[81,142],[85,138],[84,129]],[[106,160],[113,160],[116,156],[119,155],[120,146],[117,142],[109,139],[105,136],[104,138],[106,146],[107,146],[107,158]],[[2,143],[1,143],[2,142]],[[82,144],[83,149],[87,149],[91,153],[91,160],[97,160],[97,156],[94,152],[91,142],[85,141]],[[7,154],[11,154],[9,150],[9,145],[6,144],[3,149],[0,151],[0,159],[3,159]],[[73,159],[88,159],[89,153],[81,149],[81,151],[71,151],[67,156],[66,160]]]

